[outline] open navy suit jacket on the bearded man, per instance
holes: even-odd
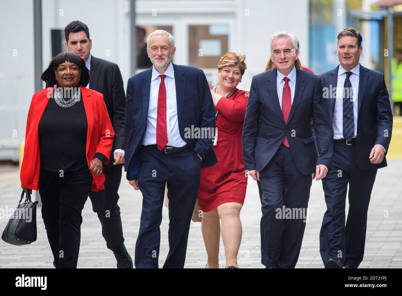
[[[201,168],[213,166],[217,162],[212,149],[213,139],[196,139],[189,137],[191,133],[188,132],[207,128],[211,130],[211,137],[215,136],[215,108],[208,81],[199,68],[173,64],[173,71],[180,136],[190,149],[202,157]],[[135,180],[138,175],[139,160],[136,153],[142,146],[146,132],[151,78],[152,68],[134,75],[127,83],[124,145],[127,180]]]

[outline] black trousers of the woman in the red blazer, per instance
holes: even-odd
[[[41,170],[42,218],[56,268],[76,268],[80,250],[82,209],[91,190],[88,168],[80,171]]]

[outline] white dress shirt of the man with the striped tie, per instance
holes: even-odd
[[[343,139],[343,87],[345,85],[346,72],[341,65],[338,69],[338,81],[336,83],[336,100],[334,108],[334,116],[332,117],[332,128],[334,129],[334,139]],[[353,94],[353,121],[355,124],[355,135],[353,138],[357,137],[357,114],[358,114],[358,96],[359,96],[359,80],[360,80],[360,64],[357,64],[355,68],[350,70],[352,75],[349,77],[351,81],[352,94]],[[348,92],[346,92],[347,94]],[[379,145],[379,144],[377,144]],[[382,145],[379,145],[386,151]]]

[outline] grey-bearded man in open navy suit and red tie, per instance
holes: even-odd
[[[202,70],[172,64],[173,36],[148,36],[151,69],[127,83],[125,170],[143,196],[136,268],[158,268],[165,185],[169,199],[169,253],[164,268],[183,268],[200,169],[217,162],[213,151],[215,109]],[[209,130],[208,137],[189,130]],[[203,133],[201,132],[201,135]]]

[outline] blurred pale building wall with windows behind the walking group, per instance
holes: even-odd
[[[42,68],[65,50],[64,27],[80,20],[89,27],[91,54],[117,63],[126,87],[134,74],[131,53],[137,51],[131,48],[130,1],[41,2]],[[18,161],[35,92],[33,0],[2,0],[0,5],[0,160]],[[394,50],[402,47],[401,6],[397,0],[137,0],[135,25],[145,30],[145,41],[155,29],[170,31],[176,43],[173,62],[202,68],[211,85],[217,83],[217,63],[223,54],[246,54],[248,68],[240,89],[249,89],[252,76],[265,68],[269,37],[276,31],[294,33],[302,65],[319,74],[338,64],[337,32],[354,26],[363,35],[361,63],[384,72],[388,85],[390,60],[384,49],[392,58]]]

